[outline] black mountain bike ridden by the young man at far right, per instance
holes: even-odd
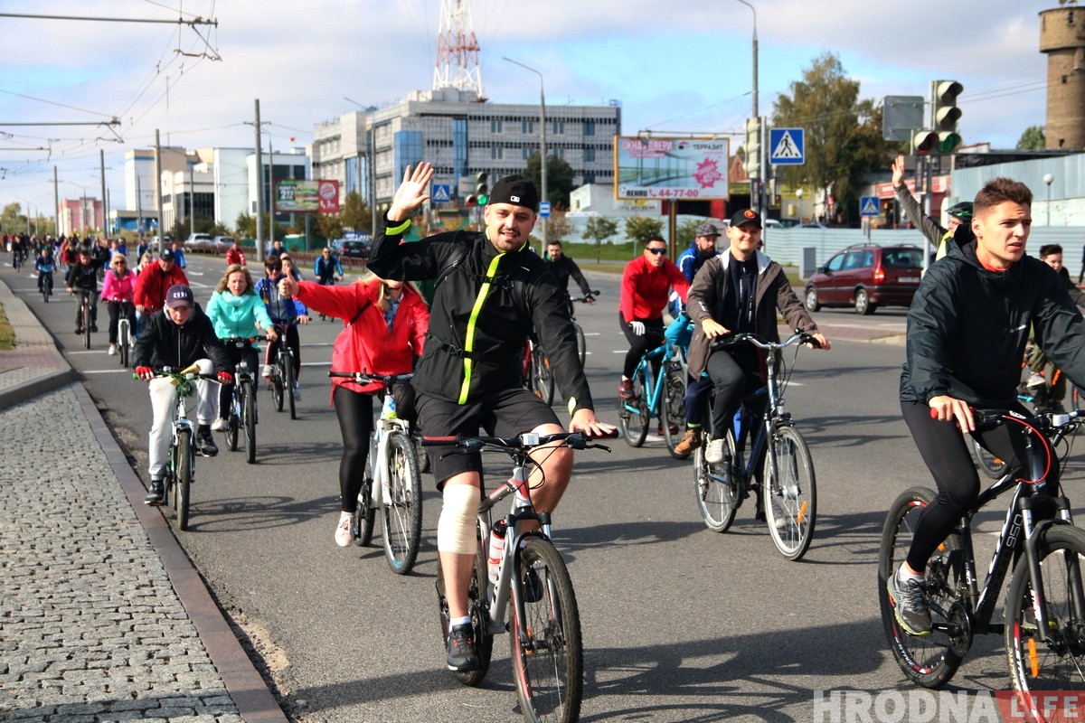
[[[1045,413],[1035,417],[1000,410],[973,411],[976,427],[1001,424],[1024,427],[1024,462],[980,493],[927,564],[923,590],[933,620],[929,635],[910,635],[896,621],[885,590],[911,546],[916,522],[934,492],[915,487],[890,508],[878,555],[878,601],[893,657],[904,674],[924,687],[947,683],[972,645],[972,637],[1003,633],[1013,688],[1033,718],[1039,690],[1085,690],[1085,530],[1073,526],[1070,502],[1048,481],[1055,452],[1085,413]],[[1069,447],[1069,446],[1067,446]],[[1064,457],[1063,457],[1064,462]],[[1009,493],[1009,512],[982,588],[972,547],[972,518],[995,499]],[[1012,570],[1006,593],[1005,623],[993,622],[1003,581]]]

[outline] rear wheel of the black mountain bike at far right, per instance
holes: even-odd
[[[953,532],[946,538],[927,563],[927,599],[931,604],[932,621],[935,625],[953,625],[952,632],[935,630],[930,635],[905,632],[896,621],[885,583],[891,574],[896,574],[907,556],[916,522],[933,501],[934,492],[924,487],[914,487],[902,493],[885,517],[878,551],[878,602],[885,637],[893,658],[908,680],[928,688],[940,687],[954,676],[972,642],[958,595],[961,585],[966,584],[959,533]],[[935,608],[946,611],[952,619],[946,619]]]

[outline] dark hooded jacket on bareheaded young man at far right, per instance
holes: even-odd
[[[919,284],[908,310],[901,400],[926,404],[947,395],[1009,408],[1033,323],[1055,365],[1085,384],[1085,321],[1065,283],[1031,256],[1006,271],[987,271],[975,244],[971,228],[958,227],[946,257]]]

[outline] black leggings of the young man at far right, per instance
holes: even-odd
[[[1027,415],[1027,411],[1017,404],[1016,411]],[[969,441],[954,422],[939,422],[931,418],[931,410],[920,402],[901,402],[904,421],[911,431],[920,456],[934,476],[939,493],[934,502],[923,509],[911,539],[911,548],[906,561],[917,572],[927,569],[927,560],[937,548],[966,512],[975,505],[980,495],[980,476],[972,462]],[[1017,465],[1025,459],[1024,427],[1004,424],[990,431],[975,432],[979,440],[992,454]],[[1059,466],[1052,464],[1048,473],[1051,489],[1058,489]]]

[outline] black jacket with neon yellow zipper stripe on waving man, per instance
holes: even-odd
[[[459,404],[519,388],[534,327],[570,414],[592,409],[566,294],[546,261],[526,245],[498,253],[482,232],[404,243],[410,223],[385,223],[370,251],[370,271],[383,279],[436,280],[416,388]]]

